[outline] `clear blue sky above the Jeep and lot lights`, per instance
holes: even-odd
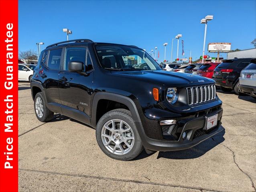
[[[209,42],[231,42],[232,49],[254,48],[256,38],[256,1],[25,1],[19,0],[19,51],[35,50],[36,42],[47,45],[70,39],[89,38],[95,42],[136,45],[147,52],[158,47],[159,62],[164,60],[163,43],[168,42],[166,58],[171,60],[171,41],[182,34],[179,58],[193,60],[202,55],[204,24],[213,15],[206,36]],[[185,55],[181,56],[181,40]],[[177,40],[173,41],[173,60]],[[217,54],[209,54],[217,56]],[[226,57],[226,54],[221,54]]]

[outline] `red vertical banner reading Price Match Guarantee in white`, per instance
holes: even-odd
[[[0,192],[18,191],[18,0],[0,0]]]

